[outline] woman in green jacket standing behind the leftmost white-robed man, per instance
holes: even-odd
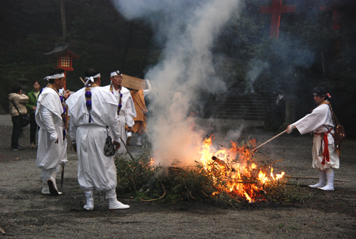
[[[33,82],[33,90],[28,92],[27,96],[30,101],[26,104],[28,114],[30,114],[30,143],[31,149],[36,147],[36,132],[38,131],[38,125],[35,119],[35,112],[37,107],[38,95],[40,95],[41,84],[38,80]]]

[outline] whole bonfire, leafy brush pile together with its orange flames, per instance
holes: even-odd
[[[277,161],[256,153],[255,139],[239,145],[231,142],[231,149],[221,146],[220,150],[214,150],[213,139],[202,142],[200,160],[183,168],[172,164],[167,167],[168,176],[162,174],[164,167],[155,164],[148,144],[134,159],[117,158],[117,191],[142,201],[214,198],[222,206],[242,201],[303,201],[295,187],[286,186],[283,171],[273,172],[271,165]]]

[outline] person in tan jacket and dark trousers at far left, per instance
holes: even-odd
[[[20,114],[24,115],[27,113],[25,104],[28,102],[27,95],[22,94],[21,85],[14,85],[12,87],[12,93],[9,94],[9,110],[12,120],[12,135],[11,135],[11,149],[22,150],[23,148],[19,144],[19,137],[22,132]],[[14,106],[16,105],[16,107]]]

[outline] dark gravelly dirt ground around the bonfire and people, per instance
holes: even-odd
[[[41,195],[41,170],[28,135],[23,151],[12,151],[11,119],[0,117],[0,238],[356,238],[356,141],[342,147],[335,191],[302,187],[304,203],[259,202],[224,209],[205,203],[152,203],[120,198],[130,209],[109,211],[95,192],[95,209],[85,211],[85,195],[77,181],[78,159],[68,152],[61,196]],[[25,129],[29,134],[29,129]],[[276,133],[254,129],[251,138],[264,142]],[[135,144],[135,138],[132,139]],[[288,176],[318,176],[311,168],[310,136],[283,134],[261,148],[274,167]],[[132,152],[140,148],[130,147]],[[291,179],[315,184],[317,179]],[[60,187],[60,176],[57,178]]]

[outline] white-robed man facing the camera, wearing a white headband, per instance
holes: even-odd
[[[127,151],[124,146],[127,139],[125,124],[127,124],[128,131],[131,131],[132,126],[135,124],[133,118],[137,116],[135,104],[132,100],[130,90],[127,90],[127,88],[121,85],[122,74],[119,70],[110,73],[110,80],[110,85],[104,88],[110,90],[117,100],[117,122],[119,122],[120,137],[123,140],[123,142],[120,141],[121,147],[117,150],[116,154],[125,154]],[[110,133],[110,135],[112,135],[112,133]]]

